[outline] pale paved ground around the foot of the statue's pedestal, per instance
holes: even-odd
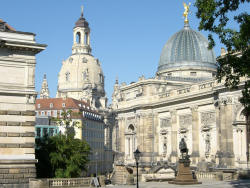
[[[110,188],[136,188],[136,185],[108,185]],[[173,185],[167,182],[140,183],[139,188],[183,188],[183,187],[207,187],[207,188],[250,188],[250,180],[239,181],[202,181],[199,185]]]

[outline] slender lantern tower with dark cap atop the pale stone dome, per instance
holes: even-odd
[[[89,23],[83,17],[83,6],[81,16],[73,29],[72,54],[91,54],[90,28]]]

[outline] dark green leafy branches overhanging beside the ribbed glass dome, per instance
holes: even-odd
[[[250,16],[240,12],[239,6],[249,6],[250,0],[196,0],[196,16],[200,18],[199,30],[209,31],[209,48],[215,46],[213,34],[225,45],[227,54],[218,58],[219,82],[225,78],[225,86],[238,88],[241,80],[246,78],[240,102],[244,106],[247,121],[250,116]],[[230,16],[234,15],[233,20]],[[234,21],[239,28],[231,28]],[[248,122],[249,123],[249,122]]]

